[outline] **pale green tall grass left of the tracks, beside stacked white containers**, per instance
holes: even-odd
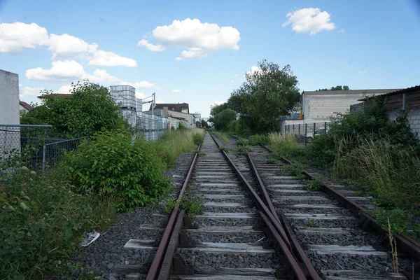
[[[165,132],[162,137],[153,143],[158,156],[167,167],[172,167],[181,153],[193,151],[197,143],[197,134],[204,135],[205,130],[195,128],[192,130],[172,130]]]

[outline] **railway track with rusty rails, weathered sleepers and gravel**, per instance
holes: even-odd
[[[119,279],[408,279],[391,273],[383,240],[333,197],[307,190],[260,147],[235,155],[213,138],[205,134],[179,195],[200,195],[204,213],[176,205],[147,276]],[[415,261],[399,257],[405,268]]]

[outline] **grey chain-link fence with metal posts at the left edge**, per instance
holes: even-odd
[[[21,153],[29,169],[45,171],[55,167],[64,153],[77,148],[83,139],[50,135],[57,135],[50,125],[0,125],[0,159]]]

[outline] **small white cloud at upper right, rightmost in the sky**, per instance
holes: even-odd
[[[322,30],[335,29],[335,24],[330,22],[330,14],[319,8],[302,8],[286,15],[287,22],[283,27],[292,26],[292,30],[297,33],[309,33],[314,35]]]

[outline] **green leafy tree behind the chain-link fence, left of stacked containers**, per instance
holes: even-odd
[[[22,124],[52,125],[67,137],[87,137],[100,130],[126,130],[129,125],[102,85],[72,84],[71,98],[45,91],[42,104],[22,118]]]

